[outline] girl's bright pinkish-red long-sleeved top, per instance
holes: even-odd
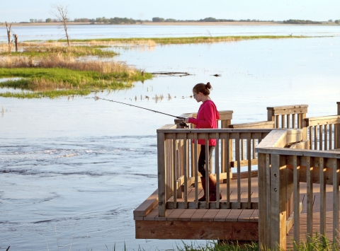
[[[217,107],[212,100],[205,100],[197,113],[197,119],[189,118],[189,123],[195,124],[196,129],[216,129],[217,119],[220,119],[220,114],[217,112]],[[205,145],[205,139],[198,139],[198,144]],[[209,139],[209,146],[216,146],[216,139]]]

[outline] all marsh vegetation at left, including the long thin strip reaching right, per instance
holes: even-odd
[[[157,45],[185,45],[240,40],[283,39],[302,36],[254,35],[225,37],[111,38],[21,42],[18,52],[0,44],[0,76],[16,78],[2,81],[11,88],[1,97],[57,98],[64,95],[89,95],[91,92],[131,88],[152,74],[115,62],[114,47],[154,48]],[[18,92],[17,90],[21,90]]]

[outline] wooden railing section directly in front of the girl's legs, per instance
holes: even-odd
[[[158,152],[158,189],[159,189],[159,216],[165,216],[166,209],[257,209],[256,203],[251,200],[251,175],[246,187],[241,187],[241,151],[240,141],[246,141],[246,160],[248,161],[248,173],[251,173],[251,147],[252,140],[261,142],[271,129],[176,129],[174,125],[166,125],[157,130]],[[197,139],[216,139],[215,168],[217,180],[217,194],[219,194],[220,181],[225,180],[227,191],[230,186],[230,160],[229,146],[234,142],[235,158],[237,166],[237,200],[232,202],[229,193],[227,197],[216,202],[198,202],[198,144]],[[191,143],[193,141],[193,144]],[[208,154],[208,148],[206,149]],[[208,159],[208,158],[207,158]],[[221,170],[220,166],[226,169]],[[206,169],[210,170],[209,162]],[[209,173],[206,172],[206,178]],[[208,180],[208,179],[207,179]],[[183,185],[183,194],[181,185]],[[188,199],[188,187],[194,185],[195,191],[192,201]],[[209,194],[208,182],[206,194]],[[241,199],[242,191],[246,191],[246,199]],[[181,202],[178,201],[182,198]],[[208,199],[207,199],[208,201]]]

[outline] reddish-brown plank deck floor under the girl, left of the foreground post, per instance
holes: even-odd
[[[246,184],[243,179],[242,185]],[[232,182],[236,186],[236,182]],[[236,189],[236,187],[234,187]],[[257,193],[257,178],[252,178],[251,189]],[[220,185],[221,204],[226,198],[226,184]],[[188,205],[194,205],[194,189],[188,194]],[[200,196],[203,190],[200,187]],[[190,195],[191,194],[191,195]],[[235,194],[235,195],[234,195]],[[246,193],[244,193],[246,194]],[[236,202],[236,193],[230,191],[231,201]],[[245,197],[244,197],[245,199]],[[158,216],[157,192],[154,192],[134,211],[137,239],[187,239],[187,240],[254,240],[259,239],[259,216],[257,209],[173,209],[172,199],[166,209],[166,217]],[[182,199],[177,199],[183,205]],[[257,202],[257,199],[256,199]],[[144,215],[144,216],[143,216]]]

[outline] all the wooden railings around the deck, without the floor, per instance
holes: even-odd
[[[220,129],[181,129],[166,125],[157,130],[159,216],[166,209],[259,209],[260,246],[273,250],[286,247],[288,216],[293,214],[294,241],[300,241],[300,182],[307,182],[307,237],[313,230],[313,183],[319,184],[320,228],[326,228],[326,185],[333,185],[333,240],[339,237],[340,102],[337,115],[306,118],[307,105],[267,107],[267,122],[231,124],[232,112],[225,111]],[[220,112],[221,114],[222,112]],[[181,117],[195,117],[188,113]],[[180,121],[179,121],[180,122]],[[231,129],[227,129],[231,127]],[[278,129],[279,128],[279,129]],[[229,194],[232,167],[236,167],[237,199],[229,195],[216,202],[198,202],[197,139],[216,139],[214,165],[206,170],[221,180]],[[308,150],[312,148],[312,150]],[[324,151],[321,151],[324,150]],[[327,150],[327,151],[325,151]],[[208,151],[206,151],[208,156]],[[250,191],[251,168],[258,165],[259,194]],[[246,186],[241,185],[241,167],[246,166]],[[215,168],[214,168],[215,167]],[[207,172],[208,177],[208,172]],[[188,189],[194,185],[194,196]],[[206,186],[207,194],[209,187]],[[246,197],[242,197],[242,191]],[[242,194],[243,195],[243,194]],[[255,199],[256,198],[256,199]],[[271,234],[268,234],[271,230]]]

